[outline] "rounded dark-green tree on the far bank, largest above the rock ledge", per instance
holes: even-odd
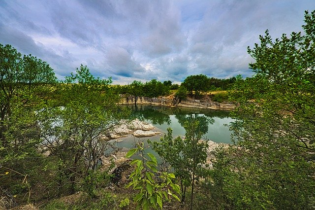
[[[198,98],[201,92],[209,89],[209,78],[204,74],[190,75],[185,78],[182,85],[187,88],[190,95],[192,95],[194,91],[196,98]]]

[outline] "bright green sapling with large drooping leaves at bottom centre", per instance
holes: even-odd
[[[157,177],[155,175],[155,173],[158,173],[157,158],[151,153],[143,153],[143,143],[129,150],[126,158],[130,158],[136,152],[141,155],[141,160],[135,159],[131,162],[131,165],[135,165],[136,168],[131,173],[129,177],[131,181],[126,186],[132,186],[133,189],[140,190],[134,197],[134,202],[138,204],[136,209],[162,209],[163,201],[170,201],[172,197],[179,201],[176,194],[180,194],[180,187],[173,183],[175,175],[162,173]]]

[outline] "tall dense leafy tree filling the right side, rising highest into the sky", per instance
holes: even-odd
[[[231,92],[237,147],[217,158],[214,179],[236,208],[314,208],[315,11],[305,23],[304,35],[260,35],[248,47],[254,76]]]

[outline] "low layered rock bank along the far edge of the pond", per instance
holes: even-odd
[[[235,105],[230,102],[219,103],[213,102],[209,97],[196,100],[187,98],[186,100],[179,100],[175,96],[161,96],[155,98],[148,97],[134,97],[121,95],[121,102],[119,105],[159,105],[169,107],[189,107],[189,108],[201,108],[201,109],[214,109],[214,110],[226,110],[230,111],[235,108]]]

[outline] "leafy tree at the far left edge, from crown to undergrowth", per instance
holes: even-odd
[[[42,128],[48,123],[42,110],[55,82],[46,62],[0,44],[0,174],[9,173],[0,175],[1,191],[25,196],[27,190],[30,199]]]

